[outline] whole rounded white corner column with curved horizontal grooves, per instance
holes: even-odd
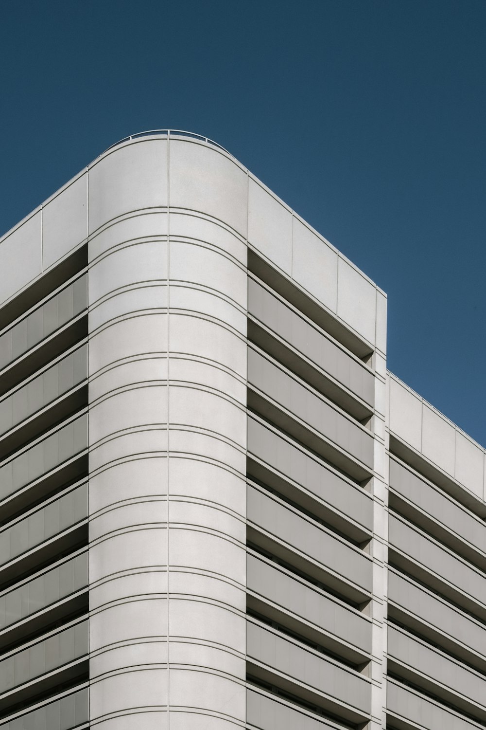
[[[246,172],[145,138],[89,175],[90,721],[243,728]]]

